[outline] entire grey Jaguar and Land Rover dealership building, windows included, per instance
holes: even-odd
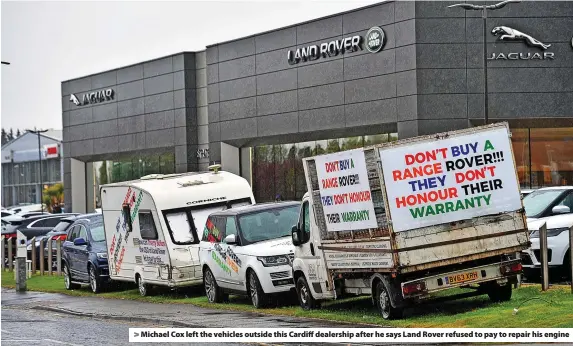
[[[488,11],[485,54],[481,11],[451,4],[387,1],[63,82],[66,208],[214,162],[257,201],[300,199],[302,158],[480,125],[486,102],[522,188],[573,184],[573,2]]]

